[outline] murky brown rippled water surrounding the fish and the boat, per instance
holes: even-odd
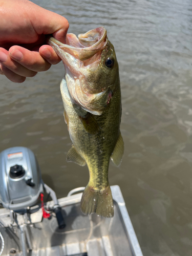
[[[190,0],[34,0],[79,34],[104,26],[120,67],[125,152],[110,165],[144,256],[192,255],[192,3]],[[66,162],[60,63],[23,84],[1,76],[0,150],[27,146],[58,197],[86,186],[87,167]]]

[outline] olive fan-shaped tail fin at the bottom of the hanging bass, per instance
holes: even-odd
[[[112,218],[114,209],[110,186],[99,190],[88,184],[82,194],[81,210],[83,214],[93,214],[95,212],[99,216]]]

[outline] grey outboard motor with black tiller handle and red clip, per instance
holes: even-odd
[[[54,206],[49,208],[49,212],[46,213],[43,202],[41,202],[42,216],[48,218],[47,215],[50,216],[54,212],[58,227],[64,228],[66,224],[57,197],[55,192],[42,181],[34,153],[27,147],[17,146],[10,147],[0,154],[0,204],[4,208],[10,209],[11,220],[17,224],[20,230],[23,256],[28,256],[28,249],[32,249],[32,241],[26,227],[28,222],[19,224],[17,216],[30,216],[34,212],[30,207],[37,204],[39,196],[42,199],[44,190],[51,196]],[[36,210],[38,209],[37,207]],[[28,221],[30,222],[29,217]]]

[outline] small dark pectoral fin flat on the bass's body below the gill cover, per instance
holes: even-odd
[[[99,125],[91,113],[87,113],[87,115],[84,117],[79,116],[79,119],[81,120],[86,132],[90,134],[98,134]]]

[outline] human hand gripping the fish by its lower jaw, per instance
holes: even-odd
[[[68,20],[28,0],[0,0],[0,74],[24,82],[61,59],[46,35],[65,42]]]

